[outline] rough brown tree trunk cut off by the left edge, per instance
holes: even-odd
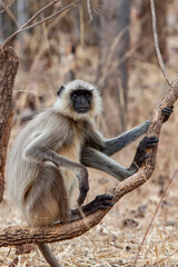
[[[12,120],[12,89],[19,60],[13,50],[0,46],[0,201],[4,189],[4,165]]]

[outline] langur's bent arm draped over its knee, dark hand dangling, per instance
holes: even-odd
[[[58,135],[58,134],[56,134]],[[62,157],[50,149],[57,140],[57,136],[49,137],[48,135],[42,135],[32,141],[24,151],[24,157],[30,160],[36,160],[38,162],[51,161],[57,167],[62,167],[66,169],[77,171],[77,177],[79,178],[79,190],[80,195],[78,198],[78,204],[81,205],[87,196],[89,190],[88,185],[88,171],[85,166],[77,164],[72,160],[69,160],[66,157]],[[59,138],[59,137],[58,137]],[[60,140],[58,140],[60,141]],[[49,177],[50,179],[50,177]]]

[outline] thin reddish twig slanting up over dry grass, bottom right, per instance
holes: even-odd
[[[177,174],[178,174],[178,169],[176,169],[176,171],[174,172],[171,179],[169,180],[169,182],[168,182],[168,185],[167,185],[167,187],[166,187],[166,189],[165,189],[165,191],[164,191],[164,194],[162,194],[162,196],[161,196],[161,198],[160,198],[160,200],[159,200],[159,202],[158,202],[158,205],[157,205],[157,208],[156,208],[156,210],[155,210],[155,212],[154,212],[154,216],[152,216],[152,218],[151,218],[151,220],[150,220],[150,222],[149,222],[149,225],[148,225],[148,228],[147,228],[147,230],[146,230],[146,233],[145,233],[145,235],[144,235],[142,241],[141,241],[141,244],[140,244],[140,246],[139,246],[139,249],[138,249],[138,253],[137,253],[137,255],[136,255],[135,266],[137,265],[138,256],[139,256],[140,250],[141,250],[142,246],[144,246],[144,243],[145,243],[145,240],[146,240],[146,237],[147,237],[147,235],[148,235],[148,233],[149,233],[149,230],[150,230],[150,228],[151,228],[151,225],[152,225],[152,222],[154,222],[154,220],[155,220],[155,217],[156,217],[156,215],[158,214],[158,210],[159,210],[159,208],[160,208],[160,205],[162,204],[162,200],[164,200],[164,198],[165,198],[165,196],[166,196],[166,194],[167,194],[170,185],[172,184],[175,177],[177,176]]]

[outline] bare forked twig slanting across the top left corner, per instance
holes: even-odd
[[[18,36],[20,32],[22,32],[22,31],[24,31],[24,30],[29,30],[29,29],[31,29],[31,28],[33,28],[33,27],[36,27],[36,26],[39,26],[39,24],[43,23],[44,21],[48,21],[48,20],[50,20],[50,19],[59,16],[60,13],[65,12],[66,10],[75,7],[75,4],[79,3],[81,0],[76,0],[76,1],[73,1],[72,3],[66,6],[65,8],[58,10],[57,12],[55,12],[55,13],[46,17],[44,19],[42,19],[42,20],[40,20],[40,21],[31,24],[31,26],[27,26],[27,27],[26,27],[26,24],[29,24],[39,13],[41,13],[41,12],[44,11],[47,8],[51,7],[52,4],[55,4],[55,3],[58,2],[58,1],[60,1],[60,0],[55,0],[55,1],[52,1],[52,3],[47,4],[46,7],[43,7],[42,9],[40,9],[37,13],[34,13],[34,14],[32,16],[32,18],[24,23],[24,26],[22,26],[19,30],[17,30],[14,33],[12,33],[10,37],[7,38],[7,40],[6,40],[4,43],[3,43],[3,47],[6,47],[7,44],[9,44],[9,42],[12,41],[12,39],[13,39],[16,36]]]

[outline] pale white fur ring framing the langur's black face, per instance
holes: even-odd
[[[87,113],[78,113],[72,107],[70,95],[76,90],[92,91],[91,108]],[[57,112],[60,112],[63,116],[72,118],[73,120],[79,120],[88,117],[95,118],[95,116],[101,111],[101,105],[102,101],[97,87],[82,80],[73,80],[65,86],[65,89],[60,92],[53,108]]]

